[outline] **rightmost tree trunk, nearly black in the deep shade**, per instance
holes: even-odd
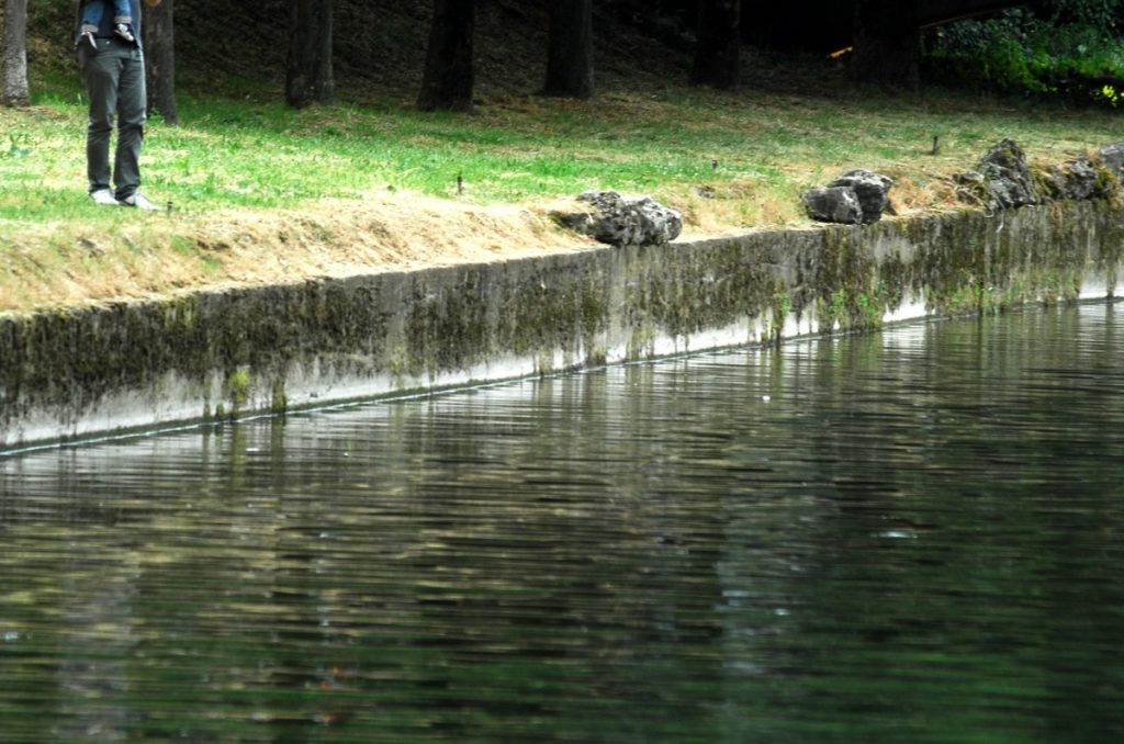
[[[916,0],[856,0],[854,61],[859,82],[916,90],[921,85]]]

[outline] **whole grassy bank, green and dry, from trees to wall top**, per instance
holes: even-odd
[[[772,74],[735,93],[498,92],[473,116],[422,115],[406,94],[297,112],[253,84],[184,91],[182,126],[153,121],[143,161],[143,190],[171,210],[138,214],[87,200],[80,91],[43,73],[33,108],[0,110],[0,310],[580,248],[545,206],[591,188],[651,193],[714,234],[805,224],[801,190],[869,167],[908,216],[954,206],[951,175],[1001,137],[1042,163],[1122,138],[1111,111]]]

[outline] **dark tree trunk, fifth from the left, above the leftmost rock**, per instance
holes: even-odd
[[[543,93],[568,98],[593,96],[592,0],[553,0]]]

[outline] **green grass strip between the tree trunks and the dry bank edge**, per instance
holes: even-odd
[[[114,236],[136,225],[129,210],[85,197],[76,80],[36,74],[35,105],[0,110],[0,260],[18,253],[34,263],[29,251],[44,241],[65,247],[76,226]],[[689,229],[706,232],[806,223],[800,191],[852,167],[890,174],[898,206],[921,209],[940,206],[926,202],[942,198],[934,184],[972,167],[1000,138],[1049,162],[1122,139],[1111,111],[943,91],[895,98],[817,74],[783,90],[751,84],[735,93],[649,83],[581,102],[496,96],[475,115],[419,114],[397,99],[293,111],[261,88],[238,99],[181,91],[181,126],[149,123],[143,189],[198,227],[228,208],[279,212],[388,191],[528,205],[611,188],[651,193],[681,209]],[[933,136],[937,156],[928,154]],[[66,229],[43,238],[44,224]],[[165,243],[145,249],[190,252],[183,236]],[[206,252],[199,261],[214,267]]]

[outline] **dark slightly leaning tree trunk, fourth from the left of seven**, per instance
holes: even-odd
[[[471,111],[475,0],[434,0],[433,6],[418,108],[423,111]]]

